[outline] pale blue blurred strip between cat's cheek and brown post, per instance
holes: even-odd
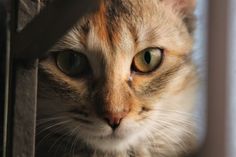
[[[193,59],[197,65],[201,82],[196,105],[196,116],[199,119],[198,135],[200,143],[202,143],[204,140],[206,130],[207,6],[207,0],[197,0],[197,7],[195,11],[197,16],[197,26],[195,31]]]

